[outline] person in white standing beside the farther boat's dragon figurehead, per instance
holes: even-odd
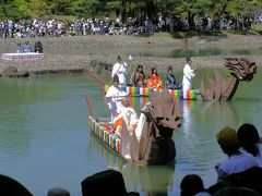
[[[191,69],[191,58],[187,57],[186,58],[186,65],[183,66],[183,78],[182,78],[182,89],[184,93],[187,93],[188,90],[192,89],[192,81],[194,77],[194,70]]]

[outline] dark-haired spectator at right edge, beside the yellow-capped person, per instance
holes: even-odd
[[[253,155],[259,167],[262,168],[262,143],[257,127],[253,124],[245,123],[237,133],[242,150]]]

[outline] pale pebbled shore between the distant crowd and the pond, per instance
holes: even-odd
[[[7,75],[3,71],[9,68],[16,68],[16,75],[26,76],[46,73],[75,73],[75,72],[104,72],[110,71],[116,62],[116,57],[120,54],[130,65],[129,72],[133,72],[138,64],[144,65],[145,72],[150,73],[155,66],[158,72],[166,72],[171,65],[174,69],[182,69],[184,58],[153,58],[138,54],[146,50],[160,51],[165,48],[182,48],[184,39],[172,37],[133,37],[133,36],[68,36],[47,38],[24,38],[24,39],[0,39],[0,53],[14,52],[17,42],[29,40],[34,44],[36,39],[43,42],[45,58],[34,62],[10,62],[0,60],[0,75]],[[225,36],[225,37],[193,37],[189,38],[188,46],[195,48],[260,48],[262,46],[261,36]],[[130,61],[128,56],[133,56]],[[245,57],[245,56],[243,56]],[[247,56],[248,57],[248,56]],[[195,57],[193,63],[199,68],[223,65],[221,56]],[[262,57],[248,57],[262,64]],[[13,69],[9,69],[13,70]],[[7,71],[7,70],[5,70]],[[15,75],[15,74],[14,74]]]

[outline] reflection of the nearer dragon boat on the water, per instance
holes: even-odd
[[[92,149],[106,157],[107,167],[122,173],[129,192],[140,192],[145,196],[165,196],[172,189],[175,162],[151,167],[130,164],[95,134],[91,133],[90,140]]]

